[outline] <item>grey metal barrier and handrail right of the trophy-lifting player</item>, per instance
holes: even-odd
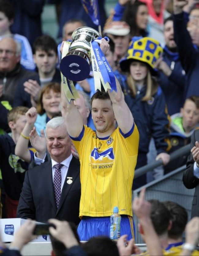
[[[170,161],[175,160],[181,156],[184,156],[185,154],[190,153],[190,144],[176,150],[175,152],[171,153],[170,155]],[[135,170],[135,177],[137,178],[148,171],[153,170],[156,167],[159,167],[162,165],[162,160],[157,160],[153,161],[152,163],[149,163],[137,170]],[[153,180],[150,183],[147,183],[145,185],[146,187],[146,194],[145,194],[145,199],[157,199],[160,201],[173,201],[176,203],[179,203],[183,207],[186,208],[189,219],[190,219],[190,214],[191,214],[191,202],[193,199],[193,190],[188,190],[186,187],[184,187],[182,183],[182,175],[183,172],[186,168],[186,165],[183,165],[171,172],[169,172],[166,175],[163,175],[159,179]],[[142,187],[136,189],[133,191],[133,198],[139,195]],[[176,191],[177,189],[177,191]],[[135,232],[135,237],[136,237],[136,243],[142,243],[143,240],[141,238],[141,235],[139,234],[137,230],[137,224],[138,224],[138,219],[134,215],[133,217],[134,223],[136,226],[136,232]]]

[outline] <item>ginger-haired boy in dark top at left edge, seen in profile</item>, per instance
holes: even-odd
[[[8,113],[8,125],[11,133],[0,135],[0,168],[2,171],[2,180],[6,193],[6,217],[16,218],[18,200],[23,186],[25,171],[28,169],[28,163],[22,161],[15,155],[15,145],[19,137],[24,136],[22,130],[26,124],[26,107],[16,107]],[[29,148],[33,155],[33,148]]]

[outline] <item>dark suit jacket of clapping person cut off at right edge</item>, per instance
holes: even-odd
[[[191,136],[190,148],[193,148],[193,146],[195,146],[196,141],[199,141],[199,130],[195,130],[193,132]],[[186,163],[186,170],[183,174],[183,183],[186,188],[189,188],[189,189],[195,188],[195,193],[194,193],[193,202],[192,202],[191,218],[195,216],[199,217],[199,179],[197,179],[193,175],[193,165],[194,165],[194,160],[193,160],[192,153],[190,153]]]

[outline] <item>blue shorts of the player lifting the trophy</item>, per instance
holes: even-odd
[[[78,225],[77,233],[80,241],[88,241],[94,236],[110,237],[110,217],[88,217],[83,216]],[[127,240],[135,241],[135,224],[133,218],[128,215],[121,215],[120,236],[127,234]]]

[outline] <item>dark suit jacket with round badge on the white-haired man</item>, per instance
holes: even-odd
[[[62,188],[58,209],[54,198],[51,160],[26,171],[24,184],[17,207],[17,218],[35,219],[46,222],[50,218],[80,222],[79,204],[81,196],[80,162],[72,158],[66,177],[73,177],[73,183],[67,179]]]

